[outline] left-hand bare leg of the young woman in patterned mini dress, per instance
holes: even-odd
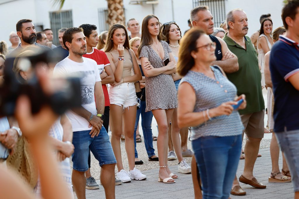
[[[168,143],[168,128],[170,123],[170,118],[173,114],[173,109],[157,109],[152,110],[152,114],[154,115],[159,129],[157,148],[158,148],[158,156],[159,156],[159,165],[165,166],[167,165],[167,143]],[[169,173],[168,173],[169,172]],[[159,169],[159,177],[161,179],[168,178],[170,174],[170,170],[168,166]],[[173,182],[173,179],[168,180],[168,182]]]

